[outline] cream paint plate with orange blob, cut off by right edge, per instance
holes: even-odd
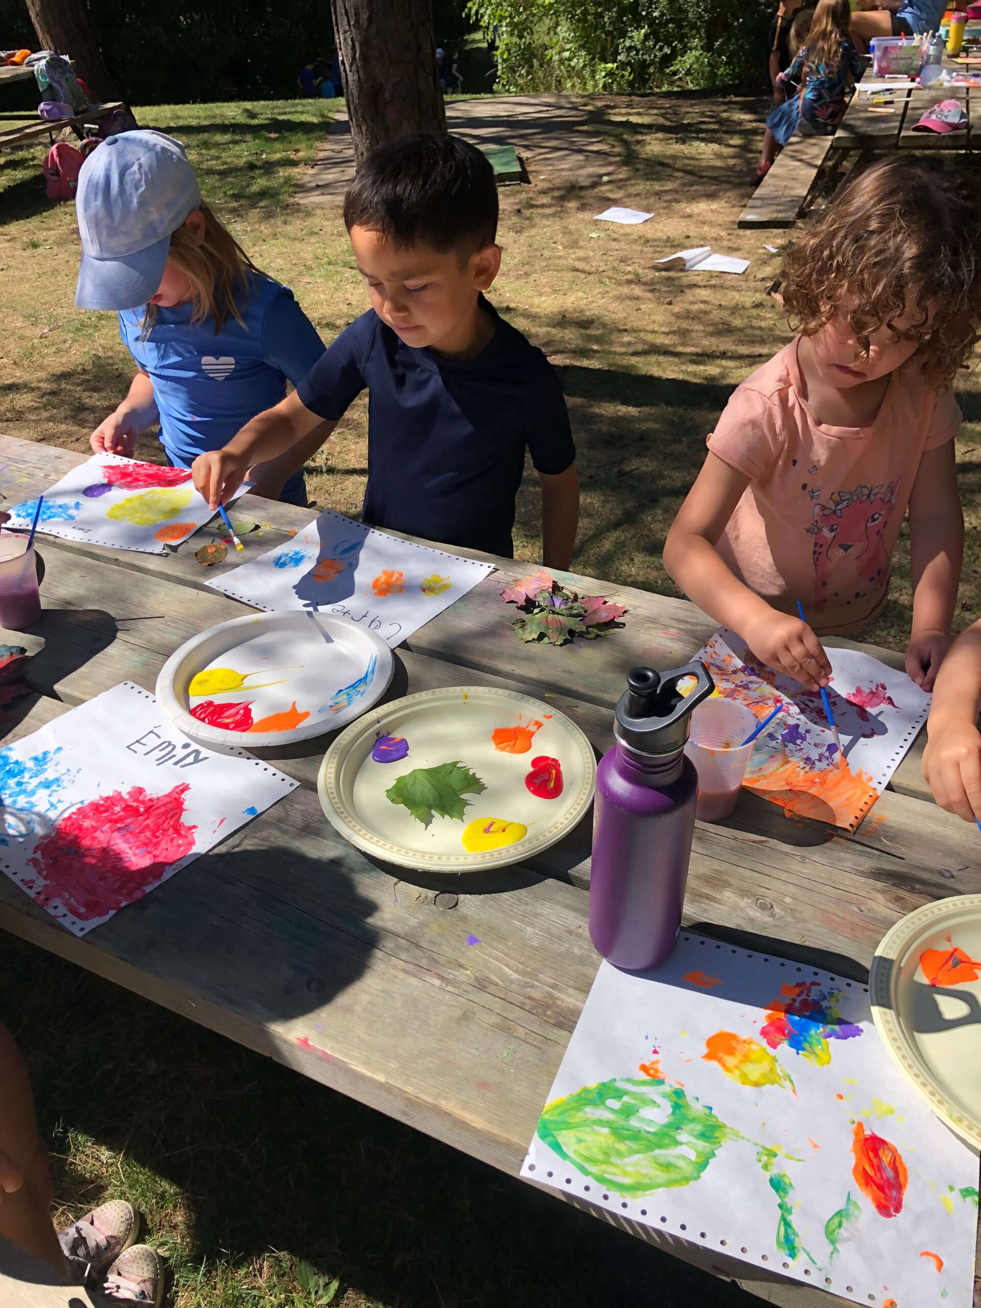
[[[872,959],[872,1018],[933,1110],[981,1150],[981,895],[925,904]]]

